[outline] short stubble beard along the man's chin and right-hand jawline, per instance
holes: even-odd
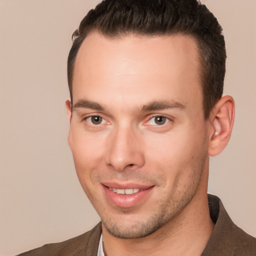
[[[150,217],[134,220],[125,226],[121,223],[121,217],[113,219],[111,216],[104,215],[103,218],[101,216],[102,226],[104,226],[107,232],[122,239],[142,238],[154,233],[175,218],[194,197],[200,185],[203,171],[207,171],[205,169],[208,164],[208,161],[206,161],[208,157],[207,144],[205,143],[206,138],[207,136],[205,135],[202,142],[203,149],[195,152],[183,165],[183,173],[186,171],[190,173],[190,175],[186,175],[186,179],[190,180],[190,182],[182,184],[182,178],[177,181],[173,185],[172,192],[167,199],[159,198],[156,205],[158,210]],[[202,180],[202,182],[207,181]]]

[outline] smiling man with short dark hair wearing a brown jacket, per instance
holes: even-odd
[[[256,239],[207,196],[226,146],[221,27],[196,0],[106,0],[73,34],[68,136],[101,222],[22,255],[255,255]]]

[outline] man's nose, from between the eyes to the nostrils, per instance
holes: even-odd
[[[114,170],[134,170],[144,165],[141,138],[131,128],[116,128],[109,134],[107,143],[106,164]]]

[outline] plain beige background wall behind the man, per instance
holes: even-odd
[[[67,145],[71,33],[97,0],[0,0],[0,255],[78,235],[98,216]],[[256,1],[202,0],[224,29],[233,135],[210,160],[209,192],[256,236]]]

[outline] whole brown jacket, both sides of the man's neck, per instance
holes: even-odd
[[[220,199],[208,195],[210,217],[215,227],[201,256],[256,256],[256,238],[237,227]],[[101,224],[69,240],[45,244],[20,256],[97,256]]]

